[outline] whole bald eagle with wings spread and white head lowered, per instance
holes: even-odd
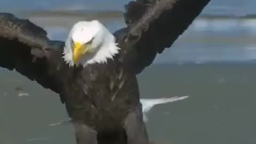
[[[0,13],[0,66],[60,95],[85,143],[148,143],[137,74],[170,47],[210,0],[137,0],[125,5],[127,27],[114,34],[79,21],[66,42],[29,20]]]

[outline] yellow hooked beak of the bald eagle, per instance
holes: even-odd
[[[89,44],[82,43],[74,43],[73,47],[73,61],[74,63],[78,63],[78,61],[82,58],[82,56],[90,50]]]

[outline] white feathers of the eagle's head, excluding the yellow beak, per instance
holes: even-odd
[[[69,66],[74,66],[73,43],[86,44],[91,40],[90,53],[79,60],[79,65],[84,67],[92,63],[105,63],[107,59],[113,59],[120,49],[115,37],[99,21],[79,21],[71,28],[63,50],[63,58]]]

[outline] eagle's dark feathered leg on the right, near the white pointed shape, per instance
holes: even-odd
[[[132,111],[126,117],[124,129],[127,135],[127,144],[148,144],[146,125],[139,110]]]

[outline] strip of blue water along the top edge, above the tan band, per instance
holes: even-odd
[[[44,0],[44,1],[34,1],[34,0],[1,0],[1,10],[53,10],[53,9],[83,9],[83,10],[123,10],[123,5],[129,2],[128,0],[95,0],[95,1],[84,1],[84,0]],[[206,7],[204,12],[209,13],[219,13],[219,14],[247,14],[255,13],[254,0],[215,0],[212,1],[209,6]]]

